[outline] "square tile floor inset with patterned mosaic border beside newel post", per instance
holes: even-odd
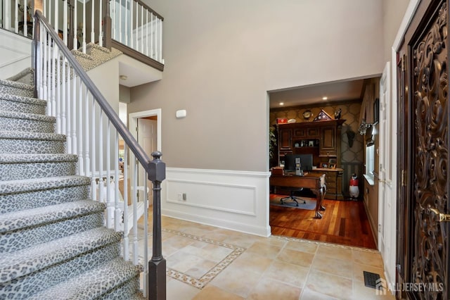
[[[245,251],[245,248],[240,246],[189,235],[177,230],[162,228],[162,231],[192,240],[191,243],[166,257],[166,274],[198,289],[203,289]],[[162,249],[165,242],[169,243],[169,239],[162,242]]]

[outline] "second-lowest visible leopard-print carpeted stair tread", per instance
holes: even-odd
[[[96,227],[45,244],[4,254],[0,256],[0,284],[61,263],[101,246],[120,242],[121,236],[120,232],[114,232],[105,227]],[[122,260],[122,258],[120,259]]]

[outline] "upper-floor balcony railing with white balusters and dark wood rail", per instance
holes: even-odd
[[[44,15],[65,45],[86,53],[86,45],[114,44],[139,52],[162,70],[161,15],[140,0],[39,0]],[[34,0],[1,0],[1,27],[32,37]]]

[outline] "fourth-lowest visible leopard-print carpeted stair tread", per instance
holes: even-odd
[[[91,179],[89,177],[78,175],[8,180],[0,182],[0,195],[90,184]]]

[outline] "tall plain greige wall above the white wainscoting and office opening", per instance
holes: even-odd
[[[379,0],[146,3],[165,18],[165,70],[131,89],[129,113],[162,108],[168,167],[267,171],[267,91],[373,77],[385,64]]]

